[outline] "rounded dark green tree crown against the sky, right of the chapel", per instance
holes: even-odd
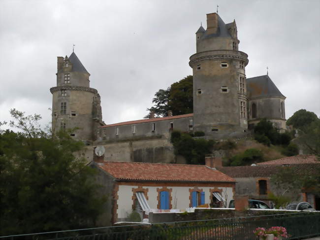
[[[314,112],[300,109],[293,113],[287,120],[287,125],[293,125],[294,128],[303,130],[304,127],[309,126],[312,122],[318,120],[318,116]]]

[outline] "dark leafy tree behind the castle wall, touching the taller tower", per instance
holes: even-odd
[[[148,111],[155,112],[156,117],[167,116],[167,111],[171,110],[173,115],[181,115],[193,112],[193,82],[189,75],[178,82],[171,84],[166,90],[160,89],[152,103],[155,103]],[[149,118],[150,113],[145,116]]]

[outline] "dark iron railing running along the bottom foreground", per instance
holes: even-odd
[[[257,227],[283,226],[288,240],[320,236],[320,213],[171,222],[14,235],[0,240],[256,240]]]

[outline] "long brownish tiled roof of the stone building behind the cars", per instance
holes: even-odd
[[[269,177],[282,168],[294,168],[297,175],[319,174],[320,164],[295,164],[290,166],[258,165],[222,167],[219,171],[231,177]]]

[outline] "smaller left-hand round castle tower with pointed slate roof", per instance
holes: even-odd
[[[100,96],[90,88],[90,73],[74,52],[58,57],[57,87],[52,87],[52,131],[74,129],[70,136],[87,144],[96,139],[103,125]]]

